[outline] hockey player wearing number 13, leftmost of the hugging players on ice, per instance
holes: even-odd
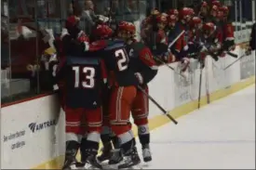
[[[59,65],[53,66],[55,78],[61,90],[61,101],[66,114],[66,153],[62,169],[88,165],[101,167],[96,162],[101,132],[101,84],[106,78],[104,63],[94,54],[85,53],[88,38],[79,28],[74,16],[66,21],[67,32],[55,42]],[[89,98],[88,98],[89,97]],[[83,126],[87,122],[86,129]],[[81,147],[81,138],[88,134],[82,144],[81,162],[75,155]],[[84,146],[84,147],[83,147]]]

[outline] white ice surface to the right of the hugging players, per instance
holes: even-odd
[[[178,122],[152,131],[153,162],[144,169],[255,169],[255,85]]]

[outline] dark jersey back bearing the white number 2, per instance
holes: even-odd
[[[108,46],[101,52],[107,70],[109,72],[114,72],[115,85],[139,85],[138,79],[131,69],[131,64],[123,41],[108,41]]]

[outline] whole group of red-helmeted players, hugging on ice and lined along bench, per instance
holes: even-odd
[[[224,57],[235,48],[228,7],[202,2],[198,11],[183,7],[167,13],[153,10],[141,22],[141,41],[133,23],[95,25],[88,37],[79,18],[69,17],[66,33],[55,40],[57,58],[50,65],[66,119],[66,153],[62,169],[74,167],[130,168],[141,163],[131,130],[138,126],[144,162],[152,161],[148,125],[148,83],[160,65],[190,58],[201,63],[207,55]],[[98,155],[100,140],[103,144]],[[75,156],[80,150],[81,161]]]

